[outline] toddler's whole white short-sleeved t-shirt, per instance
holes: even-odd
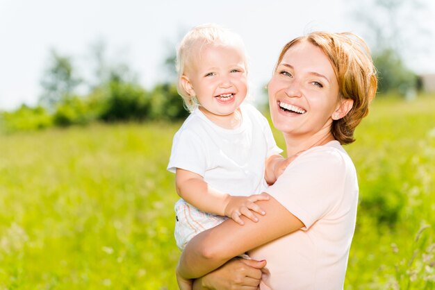
[[[174,135],[167,170],[185,169],[204,177],[211,187],[233,196],[264,191],[264,163],[281,153],[269,123],[254,106],[240,105],[242,122],[236,129],[217,126],[199,109]]]

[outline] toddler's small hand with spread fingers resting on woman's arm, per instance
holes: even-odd
[[[244,225],[240,216],[243,214],[248,219],[257,222],[258,218],[253,212],[265,215],[265,211],[261,209],[255,202],[256,201],[268,201],[268,194],[252,194],[252,196],[228,196],[228,202],[225,206],[225,216],[233,219],[236,223]]]

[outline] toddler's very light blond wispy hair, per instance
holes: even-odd
[[[181,85],[181,77],[186,74],[201,54],[202,48],[206,45],[229,45],[236,46],[243,52],[245,67],[247,69],[247,58],[245,45],[239,35],[229,29],[217,24],[202,24],[192,28],[181,40],[177,48],[176,68],[178,74],[177,91],[183,98],[184,107],[193,112],[198,106],[196,96],[190,96]]]

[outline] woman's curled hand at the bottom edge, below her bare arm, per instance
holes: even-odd
[[[257,290],[265,260],[234,258],[215,271],[195,280],[193,290]]]

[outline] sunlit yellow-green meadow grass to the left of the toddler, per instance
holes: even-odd
[[[1,136],[0,289],[177,289],[177,126]]]

